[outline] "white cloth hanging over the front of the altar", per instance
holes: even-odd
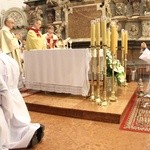
[[[24,52],[25,86],[28,89],[87,96],[88,49]]]

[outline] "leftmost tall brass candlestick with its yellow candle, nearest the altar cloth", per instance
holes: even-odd
[[[95,100],[94,88],[94,49],[95,49],[95,20],[91,21],[91,94],[90,99]]]

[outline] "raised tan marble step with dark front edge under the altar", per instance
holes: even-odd
[[[136,88],[136,82],[118,87],[117,102],[109,102],[107,106],[97,105],[89,98],[63,93],[39,92],[24,99],[30,111],[119,124]]]

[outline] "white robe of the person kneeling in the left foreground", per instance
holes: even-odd
[[[0,150],[26,148],[39,123],[31,123],[26,104],[17,85],[19,66],[0,52]]]

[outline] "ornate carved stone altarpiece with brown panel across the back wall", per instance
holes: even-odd
[[[6,16],[16,20],[16,29],[32,24],[34,18],[43,20],[43,32],[48,25],[55,27],[60,38],[89,41],[90,21],[102,13],[118,22],[118,31],[128,30],[129,40],[149,40],[149,0],[26,0],[23,9],[11,8],[1,12],[1,26]],[[103,12],[103,9],[106,9]]]

